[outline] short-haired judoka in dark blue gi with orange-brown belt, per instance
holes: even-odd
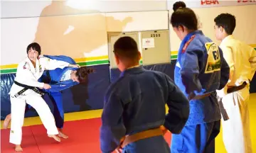
[[[188,99],[166,74],[139,66],[141,55],[132,38],[114,43],[114,57],[122,73],[105,94],[100,149],[104,153],[120,152],[120,148],[132,153],[170,152],[161,125],[181,132],[188,119]]]

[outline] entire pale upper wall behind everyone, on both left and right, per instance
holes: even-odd
[[[41,44],[43,54],[68,55],[75,59],[106,57],[107,32],[169,28],[168,15],[171,16],[172,11],[168,14],[167,1],[94,0],[92,4],[88,1],[1,1],[1,65],[20,62],[26,57],[26,46],[34,41]],[[212,40],[215,41],[213,19],[219,13],[228,12],[238,20],[235,37],[256,44],[256,5],[193,10],[203,23],[203,33]],[[171,28],[172,55],[176,54],[180,42]],[[16,56],[10,58],[10,54]]]

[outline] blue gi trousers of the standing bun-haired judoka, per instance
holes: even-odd
[[[219,132],[220,120],[186,125],[179,135],[171,135],[171,153],[214,153]]]

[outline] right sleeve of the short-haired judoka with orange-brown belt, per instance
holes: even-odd
[[[178,134],[188,120],[189,101],[168,76],[166,76],[166,83],[168,85],[166,104],[169,107],[169,113],[166,115],[164,127]]]

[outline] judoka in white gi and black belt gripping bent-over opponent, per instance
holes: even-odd
[[[77,65],[69,64],[68,62],[50,60],[49,58],[39,56],[41,54],[41,47],[36,42],[28,45],[27,54],[28,57],[18,64],[14,84],[11,86],[11,91],[9,93],[11,98],[12,119],[9,142],[16,145],[16,151],[23,150],[21,148],[21,128],[23,126],[26,103],[36,109],[47,130],[48,137],[53,137],[56,141],[60,142],[60,138],[57,136],[58,129],[55,126],[53,114],[41,97],[41,92],[36,89],[50,89],[50,85],[38,82],[38,79],[45,69],[78,67]],[[24,86],[27,86],[27,88],[30,87],[30,89],[26,90]]]

